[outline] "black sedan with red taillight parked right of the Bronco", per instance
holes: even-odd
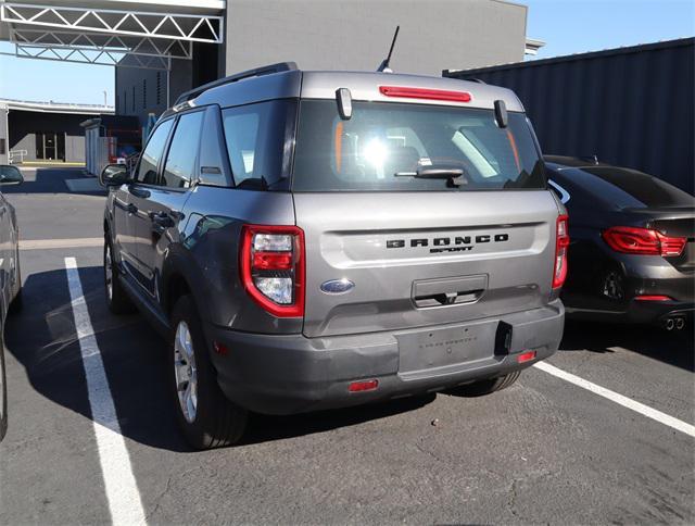
[[[569,212],[569,315],[682,329],[695,310],[695,198],[624,167],[546,156]]]

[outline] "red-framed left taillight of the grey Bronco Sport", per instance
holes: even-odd
[[[241,281],[253,300],[278,317],[304,315],[304,231],[296,226],[244,225]]]

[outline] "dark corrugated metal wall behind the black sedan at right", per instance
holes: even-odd
[[[695,38],[444,75],[515,90],[544,153],[596,154],[694,191]]]

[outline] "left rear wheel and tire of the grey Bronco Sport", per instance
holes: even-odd
[[[188,443],[199,450],[237,443],[249,412],[222,392],[190,296],[181,297],[172,313],[167,365],[176,419]]]

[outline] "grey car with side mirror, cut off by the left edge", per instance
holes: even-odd
[[[0,190],[18,185],[24,178],[16,166],[0,165]],[[14,208],[0,192],[0,440],[8,428],[8,385],[4,372],[4,321],[10,310],[20,306],[20,246]]]

